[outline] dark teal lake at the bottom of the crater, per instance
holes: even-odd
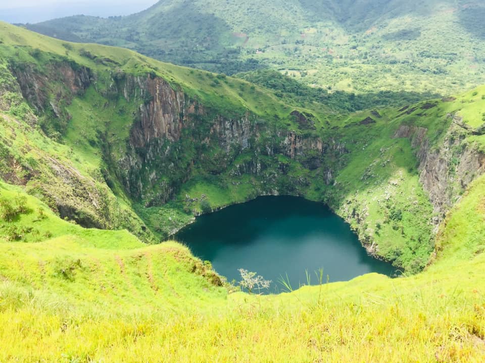
[[[326,282],[346,281],[369,272],[391,275],[390,264],[367,255],[344,220],[324,204],[298,197],[259,197],[253,201],[203,215],[181,229],[174,239],[192,253],[212,262],[228,281],[240,280],[239,268],[272,280],[271,292],[285,290],[281,276],[292,287],[317,284],[315,271],[323,268]]]

